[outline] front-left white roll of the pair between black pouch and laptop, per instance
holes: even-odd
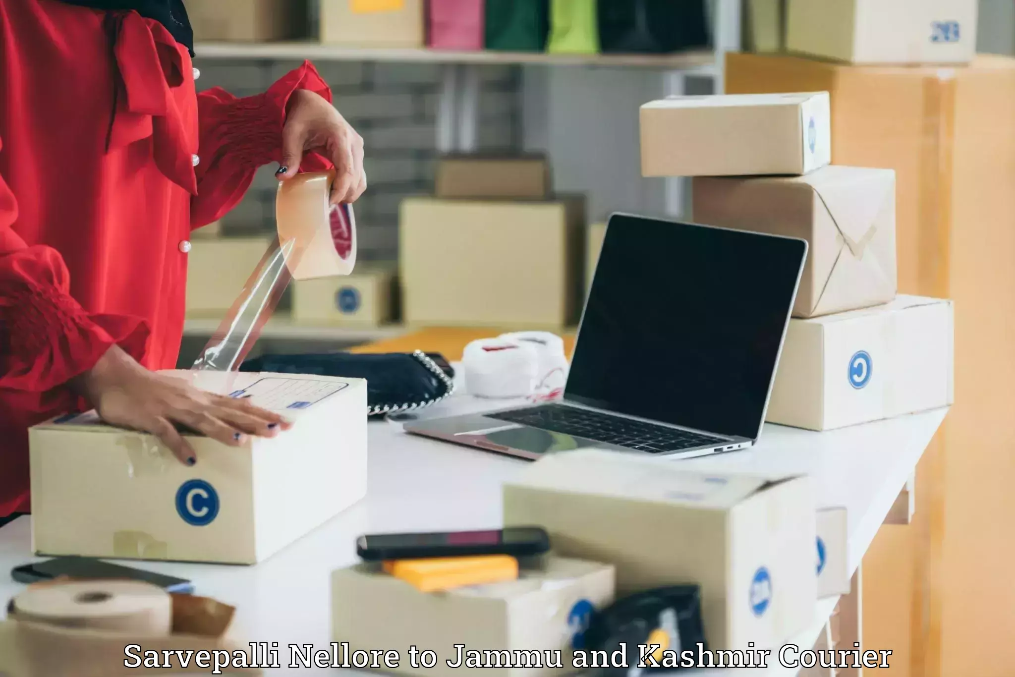
[[[529,343],[509,339],[480,339],[462,354],[465,390],[492,399],[528,397],[539,378],[539,354]]]

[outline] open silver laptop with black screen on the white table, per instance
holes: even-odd
[[[563,397],[405,429],[533,460],[746,449],[761,433],[806,258],[803,240],[615,214]]]

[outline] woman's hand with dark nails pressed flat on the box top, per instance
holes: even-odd
[[[154,434],[189,466],[197,463],[197,456],[177,425],[230,447],[240,447],[248,435],[273,437],[291,425],[247,400],[207,393],[182,379],[149,371],[117,346],[71,386],[95,407],[103,420]]]

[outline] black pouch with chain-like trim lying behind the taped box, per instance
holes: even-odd
[[[240,370],[365,379],[369,416],[428,407],[455,390],[455,371],[451,365],[441,355],[427,355],[420,350],[413,353],[263,355],[248,359]]]

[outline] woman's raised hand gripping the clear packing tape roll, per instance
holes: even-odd
[[[282,165],[275,173],[285,181],[296,176],[303,153],[317,151],[335,165],[331,203],[355,202],[366,190],[363,138],[320,94],[297,89],[289,97],[282,128]]]

